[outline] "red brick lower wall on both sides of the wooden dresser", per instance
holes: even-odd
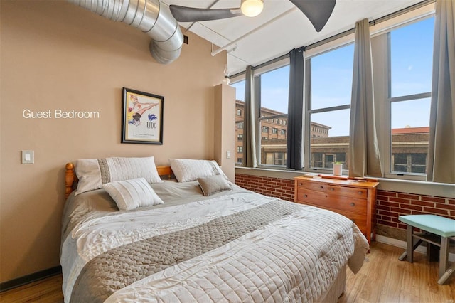
[[[265,196],[294,201],[294,180],[235,174],[235,184]],[[378,190],[376,212],[378,224],[406,229],[398,216],[429,213],[455,219],[455,199]]]

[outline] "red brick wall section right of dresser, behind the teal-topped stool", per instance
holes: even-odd
[[[455,199],[378,190],[376,220],[379,224],[406,229],[398,216],[421,214],[455,219]]]

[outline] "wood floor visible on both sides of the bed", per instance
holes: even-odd
[[[404,250],[373,243],[367,262],[357,275],[348,270],[346,293],[338,301],[454,303],[455,277],[446,285],[437,284],[438,262],[427,262],[414,253],[414,263],[399,261]],[[0,293],[0,302],[63,302],[62,276]]]

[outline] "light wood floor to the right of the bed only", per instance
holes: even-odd
[[[427,256],[418,252],[413,263],[399,261],[404,251],[373,243],[360,272],[347,271],[346,293],[338,302],[454,303],[455,277],[437,284],[439,262],[427,262]]]

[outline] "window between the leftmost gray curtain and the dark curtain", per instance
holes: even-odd
[[[261,105],[259,113],[259,127],[262,133],[268,134],[267,139],[262,136],[259,142],[260,165],[286,165],[287,154],[287,105],[289,95],[289,65],[269,70],[255,76],[255,83],[260,83],[260,94],[257,96]],[[258,79],[259,78],[259,79]],[[259,80],[259,81],[258,81]],[[280,126],[278,129],[276,126]]]

